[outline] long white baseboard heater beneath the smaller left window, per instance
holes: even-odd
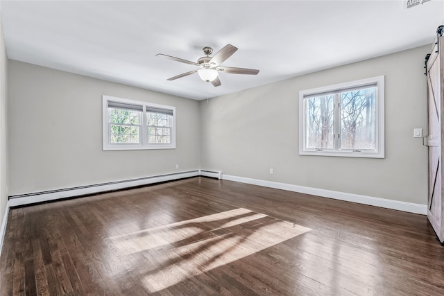
[[[12,195],[9,197],[9,205],[10,207],[17,207],[25,204],[34,204],[38,202],[46,202],[49,200],[60,200],[61,198],[71,198],[79,195],[87,195],[104,191],[119,190],[128,187],[173,181],[187,177],[196,177],[199,175],[199,171],[200,170],[187,171],[181,173],[171,173],[166,175],[143,177],[133,180],[124,180],[119,182],[109,182],[109,183],[94,184],[89,186],[78,186],[68,189]]]

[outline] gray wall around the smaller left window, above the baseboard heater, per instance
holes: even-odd
[[[8,87],[9,195],[200,166],[198,101],[14,60]],[[175,106],[177,148],[103,151],[103,94]]]

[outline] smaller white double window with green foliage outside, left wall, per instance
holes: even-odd
[[[176,108],[103,96],[103,150],[176,148]]]

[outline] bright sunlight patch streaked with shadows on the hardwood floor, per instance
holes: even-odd
[[[109,239],[125,256],[143,254],[138,272],[154,293],[309,230],[239,208]]]

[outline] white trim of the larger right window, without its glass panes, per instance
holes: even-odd
[[[363,87],[365,85],[377,85],[377,98],[375,114],[376,125],[376,151],[341,151],[341,150],[322,150],[305,149],[305,108],[304,97],[322,94],[325,92],[334,92],[339,89],[348,89],[352,87]],[[335,122],[337,124],[337,122]],[[370,157],[370,158],[384,158],[384,76],[377,76],[373,78],[366,78],[350,82],[339,83],[336,85],[329,85],[325,87],[317,87],[314,89],[306,89],[299,92],[299,155],[318,155],[318,156],[339,156],[339,157]]]

